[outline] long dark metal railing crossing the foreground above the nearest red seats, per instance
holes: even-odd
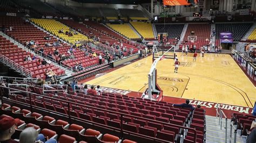
[[[2,85],[0,85],[0,88],[3,88],[3,89],[8,89],[8,90],[17,90],[17,89],[13,89],[13,88],[8,88],[8,87],[3,87]],[[63,99],[57,99],[57,98],[53,98],[53,97],[49,97],[49,96],[45,96],[45,95],[39,95],[39,94],[36,94],[34,92],[27,92],[27,91],[22,91],[22,90],[17,90],[17,91],[20,91],[20,92],[23,92],[24,94],[27,95],[27,97],[29,97],[29,104],[27,103],[22,103],[22,102],[18,102],[18,101],[14,101],[12,99],[9,99],[9,98],[3,98],[2,96],[1,97],[1,100],[2,100],[2,103],[4,103],[3,101],[11,101],[11,102],[17,102],[18,104],[22,104],[22,105],[28,105],[29,108],[30,108],[30,111],[33,112],[33,110],[43,110],[43,111],[46,111],[46,112],[52,112],[52,113],[57,113],[58,115],[62,115],[62,117],[66,117],[69,119],[69,123],[71,123],[71,119],[74,120],[74,119],[78,119],[74,116],[71,115],[71,109],[68,108],[68,112],[67,112],[67,115],[63,114],[63,113],[60,113],[60,112],[56,112],[56,111],[52,111],[52,110],[49,110],[49,109],[45,109],[45,108],[41,108],[39,106],[35,106],[35,105],[32,105],[32,96],[35,96],[36,98],[39,97],[39,98],[47,98],[47,99],[54,99],[54,100],[57,100],[59,102],[62,102],[62,103],[66,103],[68,105],[68,107],[70,107],[70,105],[77,105],[77,106],[82,106],[83,108],[90,108],[90,109],[93,109],[93,110],[99,110],[99,111],[104,111],[104,112],[110,112],[110,113],[113,113],[113,114],[116,114],[116,115],[119,115],[120,117],[120,128],[116,128],[116,127],[112,127],[112,126],[107,126],[107,125],[104,125],[104,124],[100,124],[100,123],[96,123],[96,122],[92,122],[92,121],[89,121],[89,120],[86,120],[86,123],[87,124],[95,124],[95,125],[98,125],[100,127],[107,127],[107,128],[111,128],[111,130],[113,129],[113,131],[117,131],[120,133],[120,138],[123,138],[123,134],[124,133],[129,133],[131,135],[137,135],[137,136],[140,136],[140,137],[144,137],[144,138],[147,138],[147,139],[152,139],[152,140],[155,140],[155,141],[161,141],[161,142],[166,142],[165,140],[162,140],[162,139],[157,139],[157,138],[154,138],[154,137],[150,137],[150,136],[147,136],[147,135],[143,135],[143,134],[138,134],[138,133],[134,133],[134,132],[130,132],[130,131],[126,131],[123,129],[123,120],[124,120],[124,116],[125,117],[132,117],[132,118],[137,118],[137,119],[143,119],[143,120],[148,120],[148,121],[152,121],[154,123],[159,123],[159,124],[163,124],[163,125],[167,125],[167,126],[173,126],[173,127],[178,127],[178,128],[181,128],[182,130],[191,130],[193,133],[194,133],[194,139],[193,139],[193,142],[196,143],[196,140],[197,140],[197,133],[196,133],[196,129],[195,128],[190,128],[190,127],[186,127],[186,126],[180,126],[180,125],[176,125],[176,124],[170,124],[170,123],[165,123],[163,121],[158,121],[158,120],[153,120],[153,119],[146,119],[146,118],[143,118],[143,117],[139,117],[139,116],[134,116],[134,115],[127,115],[125,113],[122,113],[122,112],[117,112],[117,111],[111,111],[111,110],[106,110],[106,109],[101,109],[101,108],[97,108],[95,106],[90,106],[90,105],[85,105],[85,104],[79,104],[79,103],[74,103],[74,102],[71,102],[71,101],[65,101]],[[72,117],[71,117],[72,116]],[[80,121],[84,121],[84,119],[81,119],[79,118]]]

